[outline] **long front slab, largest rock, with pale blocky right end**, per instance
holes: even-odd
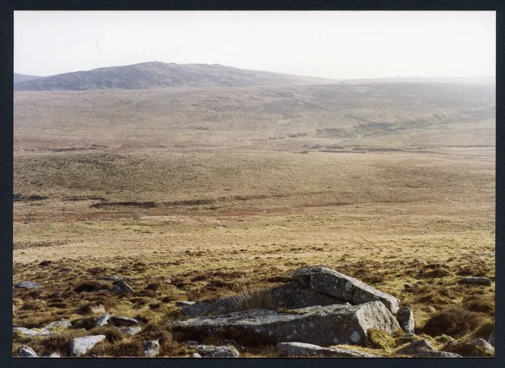
[[[291,341],[317,345],[365,344],[368,329],[392,334],[400,328],[380,301],[312,306],[284,313],[249,309],[168,325],[174,332],[195,336],[219,334],[244,345]]]

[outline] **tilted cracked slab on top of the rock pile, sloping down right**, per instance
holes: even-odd
[[[395,314],[398,310],[399,300],[396,297],[327,267],[310,266],[296,270],[293,280],[352,304],[379,300],[391,313]]]

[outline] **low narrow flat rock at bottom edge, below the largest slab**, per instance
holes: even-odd
[[[324,356],[324,357],[356,357],[356,358],[379,358],[361,351],[342,349],[339,347],[321,347],[318,345],[302,342],[281,342],[277,344],[277,351],[285,356]]]

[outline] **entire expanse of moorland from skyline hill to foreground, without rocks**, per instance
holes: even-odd
[[[188,356],[167,327],[187,319],[177,301],[274,287],[313,265],[397,297],[435,350],[492,355],[449,345],[494,328],[494,84],[109,69],[15,87],[14,282],[40,287],[14,288],[14,324],[71,326],[15,332],[14,356],[68,356],[86,335],[106,339],[84,356],[142,356],[153,339],[159,356]],[[112,276],[135,292],[96,292]],[[492,283],[459,283],[468,276]],[[109,311],[141,331],[93,327]],[[413,340],[380,337],[338,346],[403,356]],[[239,343],[240,356],[281,355]]]

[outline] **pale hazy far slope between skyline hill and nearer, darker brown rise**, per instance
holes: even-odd
[[[450,83],[15,91],[14,146],[21,152],[494,145],[494,96],[494,86]]]

